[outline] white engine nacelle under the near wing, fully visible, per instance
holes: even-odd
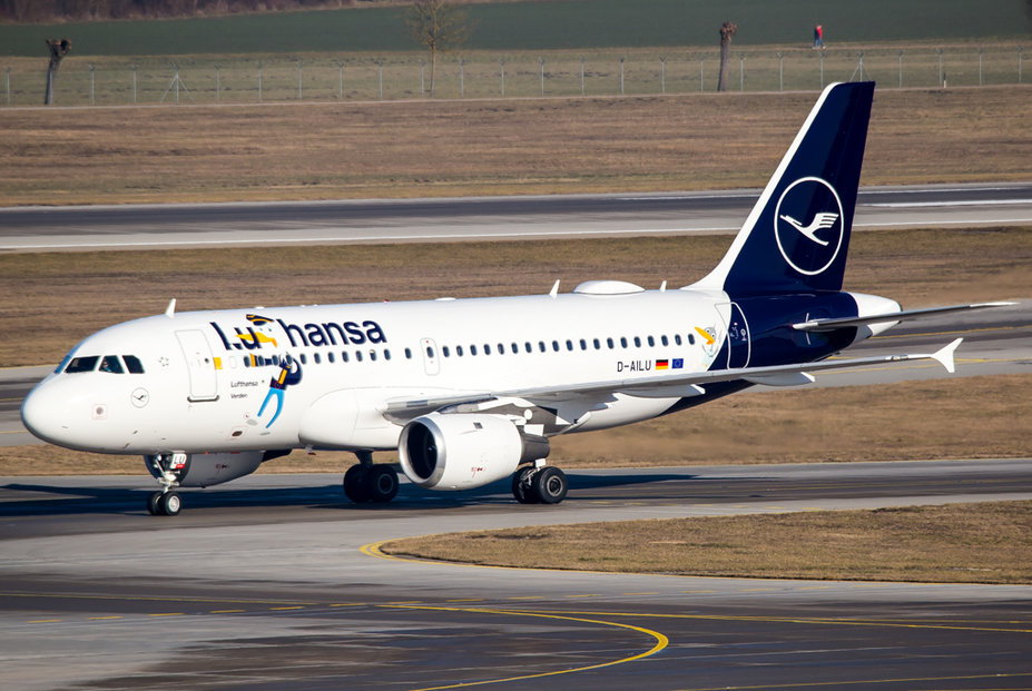
[[[548,454],[548,440],[522,434],[508,417],[468,413],[416,417],[397,445],[405,475],[427,490],[480,487]]]

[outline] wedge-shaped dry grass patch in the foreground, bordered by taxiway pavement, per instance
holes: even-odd
[[[1032,583],[1032,502],[535,526],[399,540],[381,550],[539,569]]]

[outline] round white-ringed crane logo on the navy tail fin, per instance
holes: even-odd
[[[842,200],[827,180],[806,177],[786,187],[774,211],[774,237],[785,261],[805,276],[823,274],[842,248]]]

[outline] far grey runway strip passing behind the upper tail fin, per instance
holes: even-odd
[[[0,251],[737,230],[759,190],[0,209]],[[854,227],[1032,224],[1032,182],[865,187]]]

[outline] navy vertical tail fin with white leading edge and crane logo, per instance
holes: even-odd
[[[842,289],[873,98],[869,81],[824,90],[700,287],[733,298]]]

